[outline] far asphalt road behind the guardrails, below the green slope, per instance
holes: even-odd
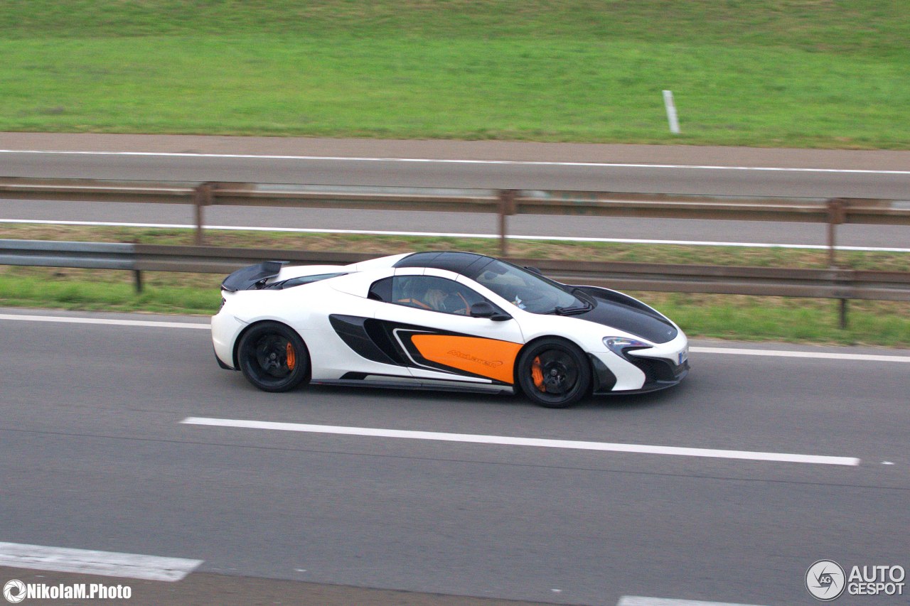
[[[0,150],[0,175],[10,177],[910,198],[910,152],[16,133],[0,134]],[[166,205],[0,200],[0,219],[189,224],[192,216],[188,208]],[[493,216],[454,213],[213,207],[206,220],[253,227],[497,230]],[[825,237],[824,226],[810,224],[591,217],[511,217],[510,231],[809,245],[824,244]],[[843,226],[839,243],[910,247],[910,228]]]

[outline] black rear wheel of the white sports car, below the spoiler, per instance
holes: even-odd
[[[263,391],[288,391],[309,379],[309,352],[296,331],[260,322],[240,338],[237,359],[243,376]]]

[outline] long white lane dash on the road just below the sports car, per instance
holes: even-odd
[[[819,455],[788,454],[782,452],[753,452],[750,450],[691,449],[675,446],[648,446],[645,444],[619,444],[615,442],[588,442],[571,439],[515,438],[511,436],[484,436],[469,433],[440,433],[437,431],[411,431],[406,429],[373,429],[366,427],[340,427],[337,425],[308,425],[304,423],[278,423],[243,419],[208,419],[187,417],[180,421],[187,425],[234,427],[244,429],[276,429],[330,433],[344,436],[369,436],[373,438],[430,439],[444,442],[470,442],[474,444],[500,444],[505,446],[536,446],[550,449],[601,450],[608,452],[636,452],[677,457],[709,457],[713,459],[770,460],[787,463],[815,463],[821,465],[859,465],[853,457],[827,457]]]

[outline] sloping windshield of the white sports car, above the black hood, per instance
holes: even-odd
[[[585,310],[590,304],[565,287],[500,260],[492,260],[474,278],[517,308],[535,314]]]

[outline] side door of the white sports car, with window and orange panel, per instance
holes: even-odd
[[[514,318],[473,318],[470,306],[487,301],[458,274],[441,269],[400,268],[370,288],[382,300],[375,319],[388,346],[419,379],[512,385],[524,343]]]

